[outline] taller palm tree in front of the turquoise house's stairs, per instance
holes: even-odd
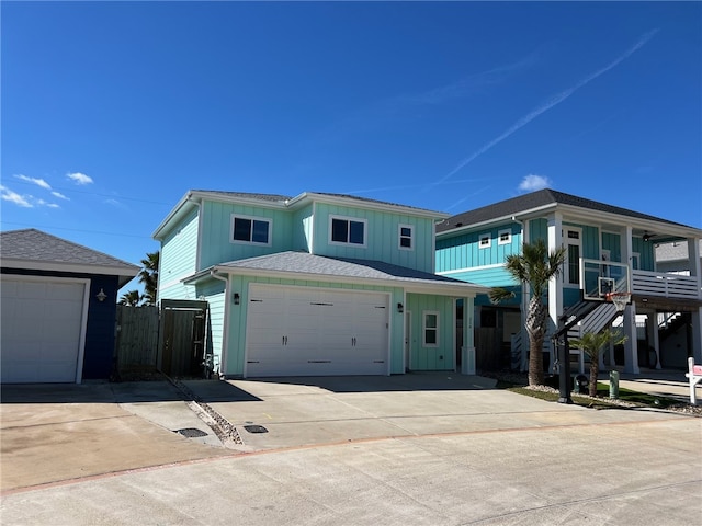
[[[566,248],[561,247],[548,253],[546,243],[537,240],[534,244],[524,243],[521,254],[505,258],[505,267],[514,279],[528,284],[531,291],[529,310],[524,327],[529,334],[529,385],[539,386],[544,382],[543,345],[546,338],[548,310],[543,296],[548,290],[548,282],[557,276],[566,260]],[[514,293],[496,287],[489,291],[490,300],[498,304],[514,297]]]

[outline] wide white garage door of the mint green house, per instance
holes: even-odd
[[[387,375],[388,296],[251,285],[246,376]]]

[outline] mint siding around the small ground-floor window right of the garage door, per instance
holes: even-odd
[[[455,369],[455,300],[446,296],[408,294],[406,311],[410,313],[410,370]],[[439,313],[438,345],[424,345],[423,319],[427,312]]]

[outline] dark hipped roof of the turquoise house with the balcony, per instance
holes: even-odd
[[[556,192],[555,190],[545,188],[531,194],[520,195],[511,199],[501,201],[492,205],[476,208],[474,210],[464,211],[455,216],[445,219],[437,225],[437,232],[443,232],[451,230],[460,226],[477,225],[492,219],[501,217],[513,216],[520,213],[529,211],[534,208],[540,208],[547,205],[569,205],[579,208],[585,208],[595,211],[603,211],[608,214],[616,214],[620,216],[627,216],[637,219],[646,219],[658,222],[666,222],[668,225],[676,225],[686,227],[679,222],[669,221],[659,217],[649,216],[639,211],[629,210],[619,206],[612,206],[597,201],[587,199],[585,197],[578,197],[576,195],[565,194],[563,192]]]

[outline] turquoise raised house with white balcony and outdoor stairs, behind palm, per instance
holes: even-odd
[[[687,368],[688,355],[694,356],[697,363],[702,362],[702,230],[542,190],[458,214],[437,227],[438,274],[488,287],[513,288],[514,299],[505,305],[491,305],[487,296],[476,299],[476,327],[501,328],[522,369],[529,342],[523,334],[522,313],[529,297],[528,290],[522,290],[507,273],[505,258],[518,254],[522,243],[534,243],[539,239],[546,241],[550,251],[562,245],[567,248],[564,272],[544,298],[548,305],[551,334],[563,321],[564,313],[569,316],[569,312],[591,310],[574,327],[570,336],[598,331],[613,320],[621,324],[622,318],[616,320],[613,305],[604,301],[611,288],[632,296],[631,306],[623,313],[623,330],[629,336],[624,355],[608,356],[610,366],[623,365],[624,370],[638,373],[639,365]],[[655,247],[673,242],[684,242],[691,248],[676,266],[676,271],[684,268],[687,276],[665,272],[670,267],[657,261]],[[682,353],[661,353],[667,325],[660,320],[669,319],[671,313],[684,313],[689,320]],[[546,338],[544,352],[550,369],[553,350],[551,339]]]

